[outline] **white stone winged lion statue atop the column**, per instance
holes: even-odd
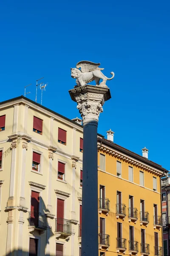
[[[94,63],[91,61],[79,61],[76,68],[71,68],[71,77],[76,79],[78,87],[84,86],[94,80],[96,85],[107,87],[106,81],[113,79],[114,73],[111,72],[112,77],[108,78],[103,75],[101,70],[104,70],[104,68],[100,68],[99,65],[100,63]],[[103,80],[101,83],[99,83],[100,79]]]

